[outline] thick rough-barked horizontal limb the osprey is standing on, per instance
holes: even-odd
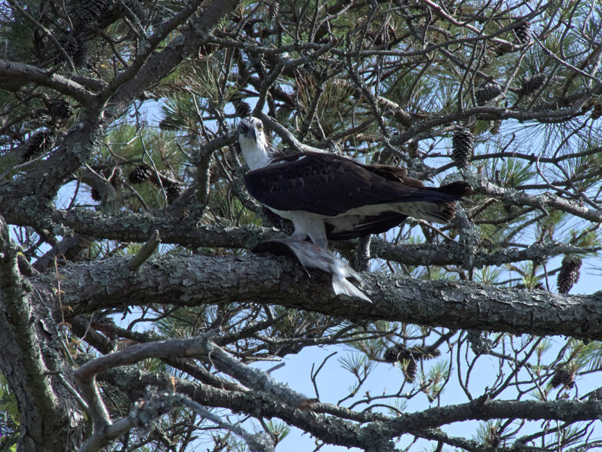
[[[366,293],[374,305],[332,293],[330,277],[312,272],[311,282],[296,261],[263,256],[154,257],[136,275],[128,259],[65,266],[59,277],[63,302],[75,314],[95,309],[164,303],[197,306],[237,302],[279,304],[357,321],[404,323],[512,332],[564,334],[602,339],[601,294],[564,296],[546,291],[497,288],[469,282],[421,281],[400,275],[366,273]],[[52,275],[31,282],[56,298]]]

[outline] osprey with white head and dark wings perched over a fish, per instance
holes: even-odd
[[[447,223],[457,201],[472,193],[464,181],[425,187],[393,166],[366,165],[322,152],[286,156],[273,149],[257,118],[238,124],[238,143],[250,168],[247,191],[293,222],[293,239],[318,247],[328,240],[379,234],[408,216]]]

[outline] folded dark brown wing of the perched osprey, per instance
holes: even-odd
[[[253,197],[272,209],[302,210],[323,216],[336,216],[372,204],[460,199],[441,188],[405,183],[400,176],[332,154],[306,152],[275,159],[265,168],[248,172],[245,185]]]

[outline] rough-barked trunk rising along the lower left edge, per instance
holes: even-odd
[[[53,346],[58,340],[58,331],[51,315],[44,312],[44,303],[31,300],[32,295],[39,296],[31,292],[31,286],[19,275],[17,248],[10,242],[8,227],[0,216],[0,328],[3,332],[0,334],[0,372],[8,380],[19,404],[20,421],[26,426],[23,444],[27,449],[38,450],[40,444],[50,448],[56,443],[62,444],[56,435],[66,419],[61,415],[60,394],[49,378],[51,372],[59,370],[55,367],[57,363],[48,362],[44,355],[63,352]],[[45,315],[40,316],[40,311]],[[81,413],[76,410],[71,415],[74,420],[81,419]],[[75,431],[74,436],[77,436]]]

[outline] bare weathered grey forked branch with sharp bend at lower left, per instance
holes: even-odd
[[[250,389],[260,391],[266,394],[266,396],[293,408],[308,410],[309,407],[316,403],[316,399],[310,399],[303,394],[294,392],[286,385],[270,378],[267,373],[238,362],[232,355],[211,341],[215,333],[216,331],[212,330],[190,339],[174,339],[137,344],[111,355],[99,357],[77,369],[74,377],[78,383],[81,397],[88,405],[88,415],[92,419],[94,429],[92,437],[83,444],[81,449],[79,449],[80,452],[98,451],[108,444],[108,442],[111,442],[133,427],[145,428],[147,430],[152,429],[154,421],[165,414],[165,412],[182,406],[188,407],[202,417],[211,419],[220,428],[227,428],[236,433],[236,435],[240,435],[245,439],[252,451],[273,451],[273,444],[267,435],[252,435],[247,433],[240,426],[234,426],[222,421],[200,404],[184,395],[175,394],[173,391],[150,394],[144,401],[138,402],[127,417],[120,419],[120,421],[113,423],[109,417],[96,385],[98,373],[116,366],[133,364],[148,358],[174,356],[195,357],[209,362],[220,371],[236,378],[236,380],[242,382],[243,385]]]

